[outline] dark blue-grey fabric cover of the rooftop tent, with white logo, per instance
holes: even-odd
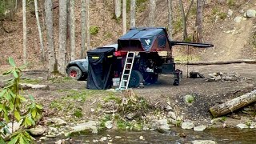
[[[134,43],[139,41],[142,49],[146,52],[150,52],[150,49],[154,45],[154,42],[158,43],[158,47],[164,48],[166,41],[168,40],[165,28],[137,28],[130,29],[128,33],[118,39],[118,46],[120,50],[122,47],[134,47]]]

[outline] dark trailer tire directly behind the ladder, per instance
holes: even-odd
[[[138,70],[132,70],[128,87],[138,87],[143,82],[142,73]]]

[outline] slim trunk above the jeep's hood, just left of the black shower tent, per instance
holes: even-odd
[[[86,51],[86,0],[82,0],[81,10],[81,54],[80,58],[85,57]]]

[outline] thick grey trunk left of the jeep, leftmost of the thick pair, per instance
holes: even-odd
[[[49,72],[52,73],[57,71],[57,60],[54,49],[54,22],[53,22],[53,3],[52,0],[45,1],[45,12],[46,12],[46,33],[47,33],[47,42],[48,42],[48,51],[49,51]]]

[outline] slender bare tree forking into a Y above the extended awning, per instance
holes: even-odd
[[[186,40],[188,38],[186,22],[187,22],[187,18],[189,16],[189,14],[190,14],[191,7],[193,6],[193,3],[194,3],[194,0],[191,0],[190,6],[189,6],[189,8],[188,8],[188,10],[187,10],[187,12],[185,14],[183,2],[182,2],[182,0],[179,0],[180,9],[182,11],[183,40]]]

